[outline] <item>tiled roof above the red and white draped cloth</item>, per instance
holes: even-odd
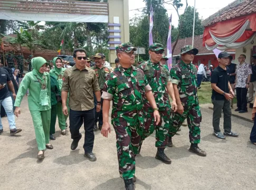
[[[202,24],[210,26],[216,22],[256,13],[256,0],[236,0],[217,13],[206,18]]]

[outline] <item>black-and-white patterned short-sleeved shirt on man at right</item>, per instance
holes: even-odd
[[[236,66],[235,74],[237,76],[236,88],[246,88],[248,75],[252,74],[252,68],[248,63],[238,64]]]

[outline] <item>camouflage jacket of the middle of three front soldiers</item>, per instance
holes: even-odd
[[[155,97],[158,108],[170,107],[170,100],[166,91],[167,82],[171,81],[166,65],[153,63],[150,60],[141,63],[139,68],[144,71],[146,78]],[[144,107],[151,107],[147,99],[144,100]]]

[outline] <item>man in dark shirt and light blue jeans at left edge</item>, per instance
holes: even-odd
[[[10,135],[14,135],[17,134],[18,132],[21,132],[22,130],[16,129],[15,118],[13,113],[13,101],[8,88],[11,89],[11,91],[13,92],[13,98],[15,99],[16,93],[10,75],[5,69],[0,68],[0,106],[2,105],[5,109],[10,127]],[[0,135],[2,134],[2,132],[3,125],[0,117]]]

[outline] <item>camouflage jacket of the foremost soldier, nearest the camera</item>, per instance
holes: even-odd
[[[106,78],[103,93],[112,94],[111,122],[115,126],[144,124],[143,99],[148,81],[140,69],[119,64]]]

